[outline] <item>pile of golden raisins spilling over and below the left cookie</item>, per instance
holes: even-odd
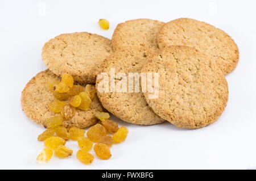
[[[100,121],[88,129],[87,137],[84,136],[84,129],[63,127],[63,121],[71,119],[77,108],[88,110],[96,94],[95,87],[86,85],[84,90],[82,86],[73,85],[73,78],[69,74],[63,74],[61,82],[49,82],[47,87],[56,98],[49,104],[49,110],[57,114],[46,121],[46,131],[38,136],[39,141],[44,141],[45,148],[39,153],[37,161],[46,163],[52,158],[53,152],[59,158],[70,157],[73,150],[65,146],[68,140],[77,141],[80,148],[77,159],[86,165],[93,162],[94,156],[89,153],[92,148],[98,158],[109,159],[112,156],[111,146],[125,141],[128,134],[127,128],[119,128],[117,123],[109,120],[109,113],[96,113]],[[68,103],[63,100],[68,100]],[[110,136],[112,133],[113,136]]]

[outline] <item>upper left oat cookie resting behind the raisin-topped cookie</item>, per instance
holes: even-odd
[[[67,33],[49,40],[43,47],[42,59],[56,75],[72,75],[80,83],[95,83],[101,64],[112,54],[111,41],[87,33]]]

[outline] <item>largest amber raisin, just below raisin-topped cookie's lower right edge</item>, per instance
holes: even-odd
[[[98,142],[102,136],[106,136],[108,131],[101,124],[96,124],[88,129],[86,133],[90,141]]]

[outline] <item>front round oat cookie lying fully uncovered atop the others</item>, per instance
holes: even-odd
[[[159,50],[142,70],[159,73],[159,96],[148,98],[152,110],[180,128],[195,129],[218,119],[228,101],[228,83],[211,57],[185,46]],[[153,76],[154,77],[154,76]]]

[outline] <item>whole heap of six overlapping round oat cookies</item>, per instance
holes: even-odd
[[[95,83],[97,97],[89,110],[78,111],[66,121],[67,127],[93,125],[95,113],[105,108],[128,123],[169,121],[195,129],[212,124],[224,111],[229,94],[225,75],[236,68],[239,52],[228,34],[198,20],[135,19],[118,24],[112,40],[87,32],[56,36],[44,45],[42,59],[48,69],[32,78],[22,92],[24,112],[40,125],[52,116],[47,105],[53,96],[46,83],[68,73],[78,85]],[[135,82],[127,81],[130,73],[140,76],[136,91],[127,88]],[[142,74],[148,78],[150,73],[151,80],[158,80],[151,82],[157,91],[154,98],[151,91],[143,91],[150,83],[144,85]],[[126,86],[115,91],[112,83]]]

